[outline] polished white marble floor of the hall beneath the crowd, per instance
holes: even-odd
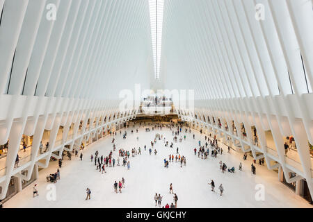
[[[312,207],[306,200],[296,196],[286,185],[278,181],[278,174],[264,166],[257,167],[257,175],[250,171],[252,158],[242,160],[242,154],[224,149],[223,155],[217,158],[209,156],[208,160],[198,158],[193,149],[198,149],[198,141],[204,142],[204,135],[195,132],[186,134],[186,140],[174,144],[174,148],[165,147],[163,140],[158,140],[156,146],[157,155],[149,155],[150,142],[156,133],[166,137],[172,142],[172,131],[167,128],[146,133],[143,127],[139,133],[131,134],[131,128],[127,130],[127,139],[122,139],[118,133],[115,137],[117,150],[113,152],[115,159],[118,157],[118,149],[141,147],[142,155],[130,158],[131,169],[127,167],[107,167],[106,173],[96,171],[95,164],[90,162],[90,155],[99,151],[101,155],[109,155],[113,150],[111,136],[106,136],[94,144],[90,144],[83,151],[83,161],[79,157],[72,157],[72,161],[64,158],[61,168],[61,180],[56,184],[56,200],[49,200],[51,183],[47,183],[45,177],[54,173],[58,167],[57,162],[51,162],[48,169],[39,173],[39,178],[22,192],[3,204],[3,207],[155,207],[154,194],[163,196],[162,205],[172,203],[173,195],[169,193],[169,185],[178,196],[177,207]],[[184,132],[184,130],[183,130]],[[184,133],[182,133],[184,136]],[[139,137],[138,141],[136,137]],[[147,151],[144,150],[147,145]],[[168,155],[175,154],[179,147],[179,153],[186,157],[186,167],[180,167],[177,162],[171,162],[168,169],[163,167],[163,159],[168,160]],[[220,160],[227,167],[235,167],[235,173],[221,173]],[[120,162],[122,158],[120,157]],[[243,171],[238,171],[239,162],[243,163]],[[113,182],[125,178],[125,189],[122,194],[115,194]],[[216,192],[211,191],[208,182],[213,179],[216,182]],[[225,189],[223,196],[219,195],[218,186],[223,184]],[[33,185],[38,184],[39,196],[33,198]],[[257,185],[264,186],[264,200],[256,200]],[[91,200],[85,200],[86,188],[91,189]],[[47,198],[48,196],[48,198]]]

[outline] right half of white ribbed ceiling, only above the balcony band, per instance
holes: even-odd
[[[166,88],[196,99],[312,93],[311,0],[170,0],[163,19]]]

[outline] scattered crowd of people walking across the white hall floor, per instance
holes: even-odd
[[[136,126],[134,125],[134,128]],[[191,128],[183,128],[183,126],[179,126],[179,124],[174,124],[174,123],[169,123],[169,124],[161,124],[161,123],[154,123],[148,124],[148,126],[146,126],[146,123],[143,123],[143,126],[141,125],[141,123],[139,124],[139,128],[143,127],[145,128],[145,132],[146,133],[150,133],[151,131],[154,130],[160,130],[159,132],[161,132],[162,128],[167,128],[168,130],[170,130],[170,132],[172,132],[172,142],[169,141],[170,139],[166,139],[166,134],[161,134],[161,133],[154,133],[154,138],[151,140],[150,142],[150,147],[147,145],[144,145],[144,151],[148,151],[150,155],[152,155],[152,151],[154,151],[154,155],[157,155],[157,148],[156,148],[156,144],[159,144],[159,141],[163,142],[163,145],[165,148],[167,148],[170,151],[173,151],[171,153],[174,153],[176,150],[175,154],[169,154],[168,155],[168,160],[166,160],[166,158],[163,159],[164,162],[164,167],[168,168],[170,163],[179,163],[180,167],[186,167],[186,156],[185,155],[181,155],[179,153],[179,147],[177,147],[176,149],[173,149],[175,146],[175,143],[177,143],[177,138],[180,137],[179,142],[182,142],[182,139],[184,138],[184,140],[186,140],[186,134],[188,135],[191,134]],[[131,134],[134,133],[138,133],[138,128],[136,128],[135,130],[131,130]],[[184,134],[184,133],[185,134]],[[202,132],[200,132],[202,133]],[[184,135],[183,135],[184,134]],[[117,133],[111,133],[111,135],[113,136],[112,139],[112,144],[113,144],[113,151],[109,151],[109,155],[100,155],[99,151],[95,151],[94,154],[90,155],[90,160],[91,162],[93,162],[95,164],[96,170],[101,172],[101,173],[106,173],[106,168],[107,167],[112,167],[112,169],[114,169],[115,167],[127,167],[127,169],[130,169],[130,158],[131,157],[135,157],[136,155],[142,155],[142,150],[141,147],[139,146],[138,148],[131,148],[131,151],[127,151],[125,150],[125,148],[118,148],[118,151],[116,152],[116,145],[115,145],[115,137],[117,136]],[[168,135],[168,134],[167,134]],[[123,139],[127,138],[127,130],[125,130],[124,133],[122,133],[122,130],[120,130],[120,136]],[[193,134],[193,139],[195,140],[195,135]],[[202,137],[203,139],[203,137]],[[137,141],[138,141],[138,136],[137,136]],[[218,139],[216,137],[216,135],[211,135],[211,133],[209,135],[204,135],[204,142],[203,140],[196,140],[196,144],[198,144],[198,148],[196,146],[193,146],[192,150],[195,156],[198,155],[198,159],[200,160],[209,160],[213,157],[213,160],[215,160],[216,158],[218,158],[219,156],[223,155],[223,148],[220,147],[218,145]],[[49,146],[49,145],[48,145]],[[147,149],[149,148],[149,149]],[[115,153],[116,152],[116,153]],[[184,150],[184,152],[187,152],[186,150]],[[79,156],[79,159],[82,161],[83,160],[83,153],[80,152],[78,153],[77,151],[74,152],[75,156]],[[113,155],[113,153],[115,153],[115,155]],[[230,153],[230,147],[228,146],[228,152]],[[117,156],[116,156],[117,155]],[[211,155],[211,157],[209,157]],[[69,160],[71,160],[72,157],[72,153],[67,152],[67,157]],[[63,156],[62,156],[63,159]],[[62,159],[59,160],[59,167],[62,167]],[[243,155],[243,160],[247,160],[247,153],[244,153]],[[259,164],[262,165],[264,164],[264,158],[260,158],[259,159]],[[222,162],[222,160],[220,160],[219,162],[219,169],[222,173],[229,172],[229,173],[235,173],[235,167],[227,167],[227,164],[225,162]],[[239,171],[243,170],[243,166],[240,162],[239,164]],[[251,164],[251,171],[252,174],[255,174],[256,169],[255,169],[255,160],[254,162]],[[57,169],[56,173],[51,173],[49,176],[47,176],[47,182],[57,182],[57,180],[60,180],[60,170]],[[211,180],[211,182],[208,183],[209,185],[211,185],[211,191],[215,191],[215,182],[214,180]],[[115,180],[115,182],[113,183],[113,188],[114,188],[114,192],[116,194],[118,193],[122,193],[122,189],[125,188],[125,178],[122,178],[122,180]],[[224,187],[222,185],[222,183],[220,183],[220,185],[218,186],[218,189],[220,191],[220,196],[222,196],[223,191],[224,191]],[[33,191],[34,191],[34,197],[38,196],[38,190],[37,187],[33,187]],[[91,190],[90,188],[86,189],[86,200],[90,199],[90,194],[91,194]],[[173,202],[169,205],[169,203],[166,203],[166,205],[163,205],[163,208],[176,208],[177,207],[177,194],[175,194],[173,192],[172,189],[172,183],[170,184],[170,194],[173,195]],[[161,207],[162,205],[162,198],[163,196],[161,196],[161,194],[155,194],[154,196],[154,200],[155,200],[155,205]]]

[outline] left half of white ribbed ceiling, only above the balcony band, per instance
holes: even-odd
[[[148,1],[0,0],[0,13],[1,94],[115,99],[150,87]]]

